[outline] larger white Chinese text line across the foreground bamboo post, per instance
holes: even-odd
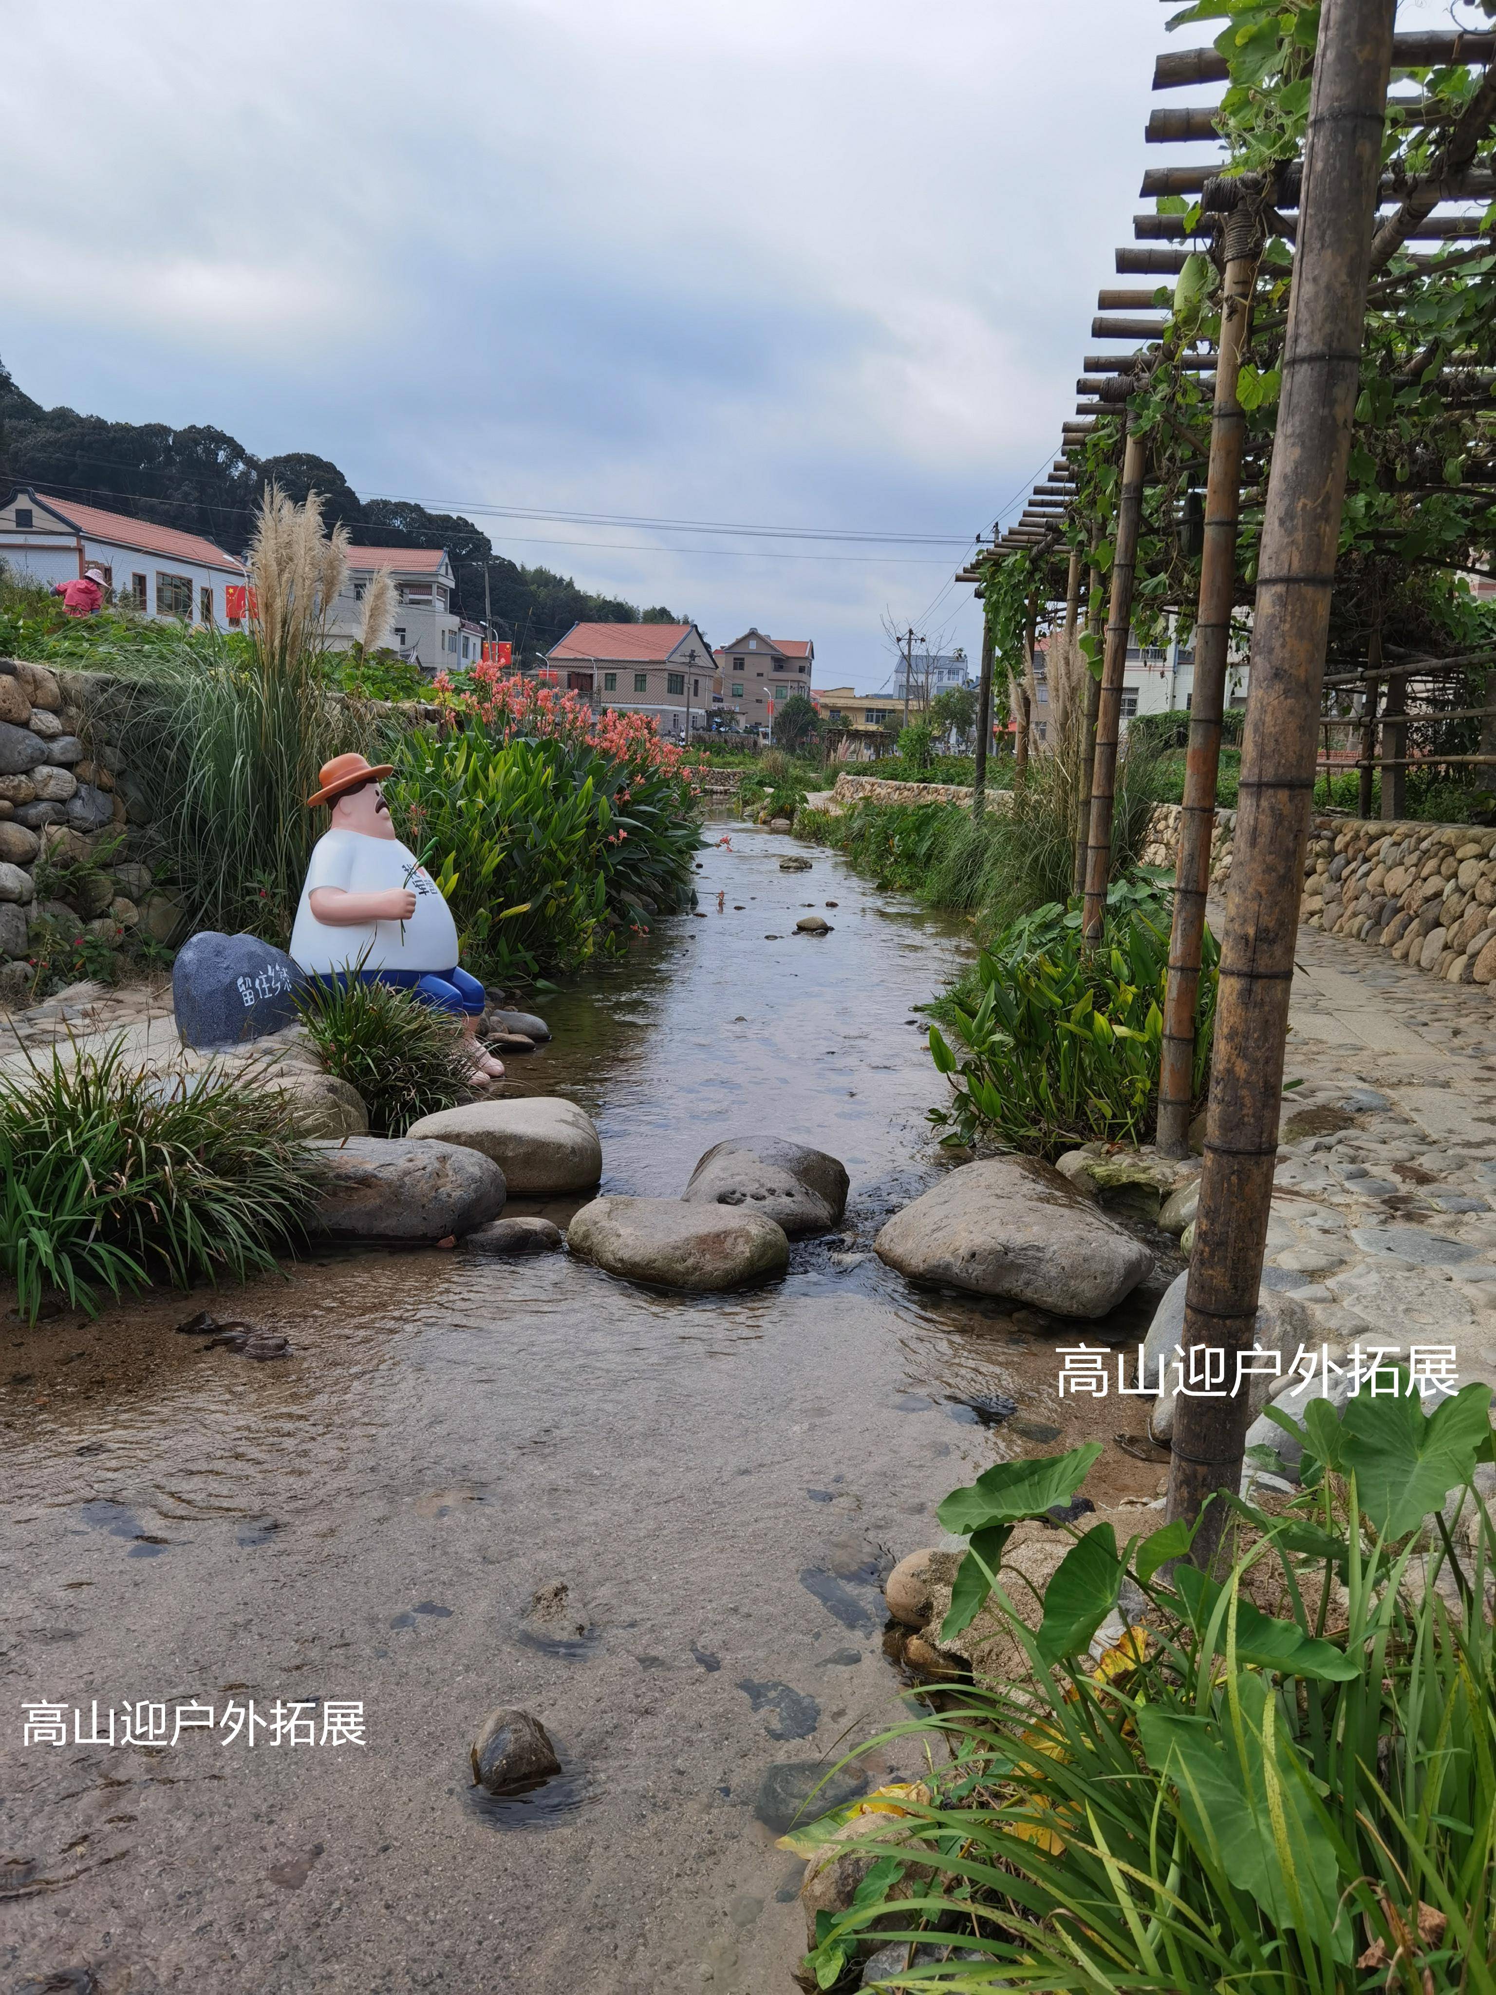
[[[1063,1359],[1059,1373],[1061,1398],[1065,1393],[1071,1398],[1081,1395],[1089,1395],[1091,1398],[1107,1396],[1111,1391],[1109,1365],[1113,1357],[1109,1349],[1089,1349],[1087,1345],[1061,1347],[1059,1357]],[[1165,1385],[1165,1367],[1173,1365],[1173,1391],[1183,1393],[1187,1398],[1235,1398],[1241,1391],[1251,1391],[1247,1385],[1251,1379],[1297,1379],[1297,1385],[1283,1387],[1281,1396],[1285,1400],[1303,1398],[1316,1381],[1318,1387],[1312,1396],[1322,1398],[1330,1393],[1336,1379],[1348,1379],[1352,1395],[1366,1391],[1372,1396],[1396,1398],[1402,1391],[1398,1363],[1402,1363],[1406,1373],[1408,1395],[1416,1393],[1420,1398],[1430,1398],[1438,1393],[1456,1393],[1460,1387],[1454,1345],[1410,1345],[1406,1359],[1402,1357],[1402,1345],[1368,1345],[1364,1349],[1356,1345],[1344,1365],[1330,1357],[1328,1345],[1299,1345],[1287,1367],[1281,1351],[1263,1351],[1259,1345],[1253,1345],[1251,1351],[1235,1353],[1225,1351],[1221,1345],[1191,1345],[1189,1351],[1183,1345],[1175,1345],[1171,1357],[1159,1359],[1157,1381],[1153,1385],[1145,1377],[1143,1345],[1139,1345],[1139,1383],[1127,1385],[1131,1359],[1123,1353],[1117,1357],[1117,1393],[1133,1398],[1157,1398],[1169,1391]]]

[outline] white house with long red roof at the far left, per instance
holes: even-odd
[[[48,585],[100,569],[116,602],[186,624],[237,620],[225,591],[243,589],[243,563],[201,535],[54,499],[30,485],[12,489],[0,505],[0,561]],[[233,606],[241,610],[241,602]]]

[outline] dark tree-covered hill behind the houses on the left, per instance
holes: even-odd
[[[343,523],[365,547],[445,547],[457,569],[463,614],[483,616],[483,565],[501,636],[531,656],[555,644],[574,622],[674,622],[670,610],[638,610],[618,597],[578,589],[551,569],[525,569],[495,555],[471,519],[427,513],[397,499],[363,501],[327,463],[293,451],[253,457],[221,429],[193,423],[110,423],[76,409],[44,409],[22,393],[0,365],[0,491],[40,485],[64,499],[152,519],[162,527],[201,533],[241,555],[249,545],[253,509],[267,481],[293,499],[319,491],[329,525]]]

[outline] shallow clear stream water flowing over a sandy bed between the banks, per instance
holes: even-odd
[[[555,1039],[511,1075],[596,1119],[610,1191],[674,1195],[732,1133],[842,1157],[846,1237],[798,1243],[784,1281],[680,1299],[566,1255],[373,1253],[227,1307],[4,1319],[6,1987],[790,1989],[800,1865],[774,1835],[898,1718],[882,1574],[957,1482],[1119,1416],[1057,1398],[1043,1321],[870,1253],[941,1167],[912,1005],[963,924],[790,838],[710,836],[702,916],[543,1001]],[[792,850],[814,868],[780,872]],[[830,936],[794,934],[808,908]],[[174,1335],[203,1305],[291,1357]],[[965,1400],[993,1393],[1019,1412],[987,1428]],[[1157,1476],[1109,1448],[1091,1488]],[[564,1622],[527,1618],[557,1584]],[[303,1706],[279,1744],[277,1700]],[[46,1702],[66,1746],[24,1744]],[[166,1738],[146,1710],[144,1744],[78,1744],[94,1702],[102,1728],[164,1706]],[[339,1702],[365,1744],[321,1744]],[[564,1778],[479,1805],[497,1704],[545,1722]]]

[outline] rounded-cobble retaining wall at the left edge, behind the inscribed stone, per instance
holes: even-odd
[[[146,800],[98,714],[108,680],[0,658],[0,1001],[50,938],[168,942],[182,916],[138,856]],[[48,866],[66,868],[48,882]],[[38,884],[40,882],[40,884]]]

